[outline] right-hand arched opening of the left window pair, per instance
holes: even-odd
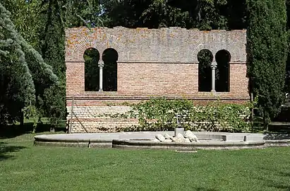
[[[104,50],[102,59],[104,61],[103,90],[117,91],[118,52],[112,48],[108,48]]]

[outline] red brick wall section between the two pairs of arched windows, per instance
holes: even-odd
[[[198,64],[120,63],[118,91],[135,96],[193,95]]]

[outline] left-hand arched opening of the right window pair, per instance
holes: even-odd
[[[210,50],[198,52],[198,91],[210,92],[212,90],[212,64],[213,55]]]

